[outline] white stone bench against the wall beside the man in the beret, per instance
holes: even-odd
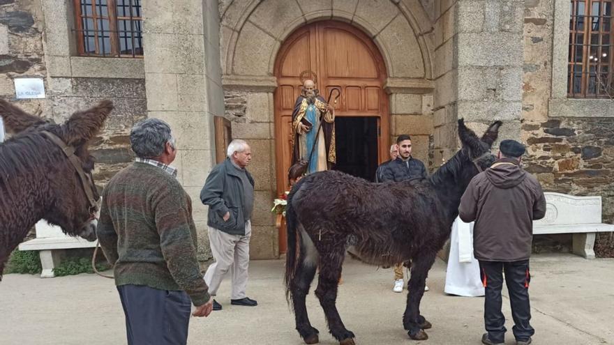
[[[573,233],[572,252],[594,259],[595,234],[614,231],[614,225],[601,222],[601,197],[544,194],[546,216],[533,222],[533,234]]]

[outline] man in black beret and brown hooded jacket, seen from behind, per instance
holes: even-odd
[[[516,344],[531,343],[534,329],[529,321],[529,257],[533,220],[546,215],[541,185],[520,167],[523,144],[504,140],[499,160],[477,174],[461,198],[458,213],[463,222],[475,222],[474,255],[486,288],[482,343],[503,344],[506,328],[501,312],[503,275],[509,291]]]

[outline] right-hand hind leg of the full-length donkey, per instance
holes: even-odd
[[[330,252],[324,253],[320,250],[320,277],[315,296],[320,299],[331,335],[341,345],[354,345],[354,333],[345,328],[335,305],[344,252],[345,243],[343,246],[331,248]]]

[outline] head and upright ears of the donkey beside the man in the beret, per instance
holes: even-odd
[[[461,176],[458,177],[461,180],[459,182],[463,183],[463,185],[469,184],[473,176],[486,170],[497,159],[491,153],[491,147],[497,140],[501,125],[501,121],[495,121],[492,125],[488,126],[484,135],[479,138],[474,131],[465,126],[463,118],[458,120],[458,137],[461,139],[462,144],[461,151],[457,154],[461,164]]]

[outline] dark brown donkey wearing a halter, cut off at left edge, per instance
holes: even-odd
[[[0,279],[10,252],[42,218],[68,235],[96,239],[100,196],[87,146],[112,109],[103,100],[56,125],[0,100],[0,116],[13,133],[0,144]]]

